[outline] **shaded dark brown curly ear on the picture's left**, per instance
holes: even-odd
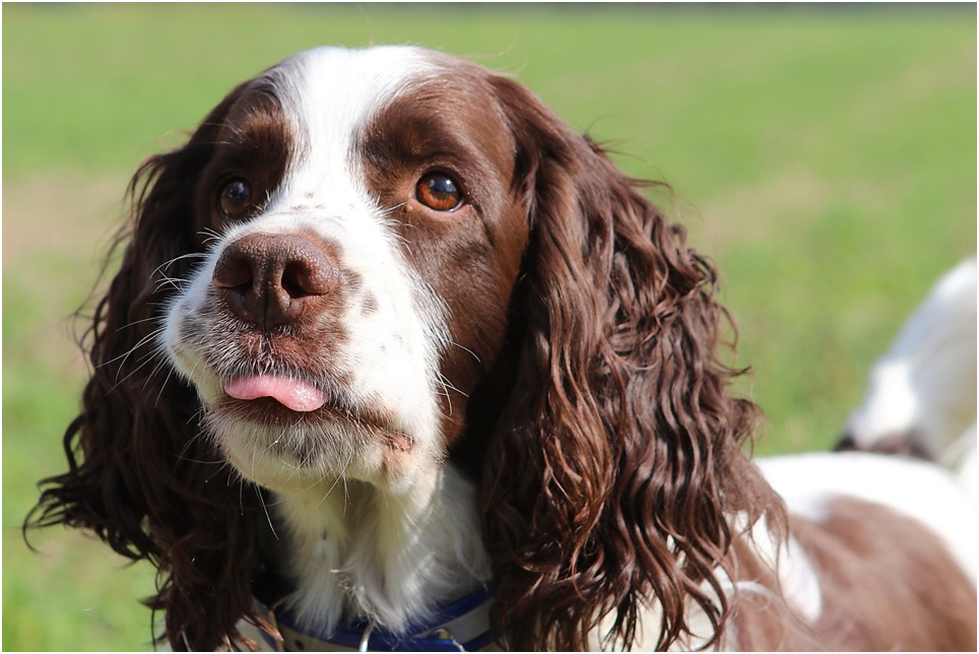
[[[25,529],[89,529],[116,552],[153,562],[158,593],[147,604],[165,609],[176,649],[214,650],[220,634],[234,633],[251,610],[247,584],[258,564],[251,509],[259,498],[231,483],[200,436],[196,392],[170,373],[155,341],[195,263],[186,255],[202,251],[197,180],[239,91],[187,145],[151,158],[131,182],[121,265],[83,338],[92,376],[64,436],[69,470],[41,482],[25,521]]]

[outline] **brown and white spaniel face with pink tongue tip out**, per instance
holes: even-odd
[[[528,239],[487,76],[411,49],[315,50],[208,123],[188,180],[205,254],[161,341],[209,433],[269,488],[409,483],[497,357]]]

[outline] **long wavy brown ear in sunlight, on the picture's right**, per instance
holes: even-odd
[[[715,271],[600,148],[496,84],[532,240],[522,351],[483,472],[495,619],[516,651],[586,650],[600,622],[628,649],[654,604],[666,649],[690,633],[692,601],[716,637],[726,517],[756,518],[771,491],[740,452],[759,411],[728,394],[740,371],[716,356]]]

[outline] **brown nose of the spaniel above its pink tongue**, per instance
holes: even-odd
[[[294,323],[336,287],[332,257],[299,234],[250,234],[228,245],[211,281],[241,320],[262,330]]]

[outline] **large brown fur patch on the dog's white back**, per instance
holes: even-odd
[[[827,518],[790,517],[817,568],[822,614],[815,624],[784,602],[738,596],[732,622],[741,651],[976,651],[976,593],[927,527],[877,504],[832,502]],[[776,591],[770,571],[735,548],[739,578]]]

